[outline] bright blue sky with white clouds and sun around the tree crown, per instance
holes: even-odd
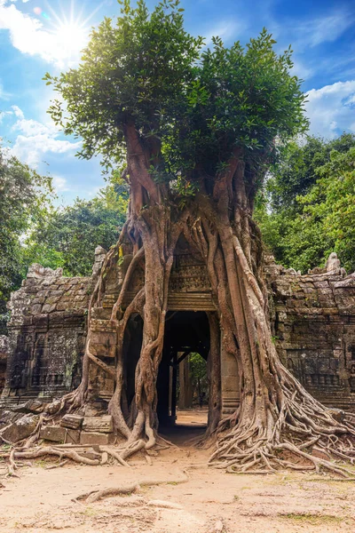
[[[148,0],[149,7],[155,2]],[[246,43],[263,27],[280,52],[292,45],[304,79],[311,131],[333,138],[355,132],[355,1],[182,0],[193,35]],[[62,203],[91,198],[105,185],[98,160],[75,157],[79,141],[64,137],[46,114],[53,97],[42,81],[75,66],[91,26],[114,17],[115,0],[0,0],[0,137],[37,171],[51,173]],[[10,143],[10,144],[9,144]]]

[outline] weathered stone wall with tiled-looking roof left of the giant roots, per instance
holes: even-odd
[[[9,304],[8,357],[0,404],[59,397],[79,385],[89,299],[105,257],[98,248],[91,277],[33,265]],[[0,367],[1,379],[1,367]],[[1,391],[1,388],[0,388]]]

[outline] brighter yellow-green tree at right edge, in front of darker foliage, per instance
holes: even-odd
[[[324,266],[336,251],[343,267],[355,270],[355,147],[317,169],[317,183],[298,197],[302,211],[290,221],[283,247],[288,264],[305,270]]]

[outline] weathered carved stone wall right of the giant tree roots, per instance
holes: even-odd
[[[355,410],[355,274],[338,265],[272,274],[274,341],[282,362],[319,401]]]

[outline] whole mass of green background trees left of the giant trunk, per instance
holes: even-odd
[[[114,173],[91,201],[54,208],[51,178],[40,176],[0,150],[0,332],[6,302],[28,266],[63,267],[67,275],[90,275],[96,246],[108,249],[126,218],[128,189]]]

